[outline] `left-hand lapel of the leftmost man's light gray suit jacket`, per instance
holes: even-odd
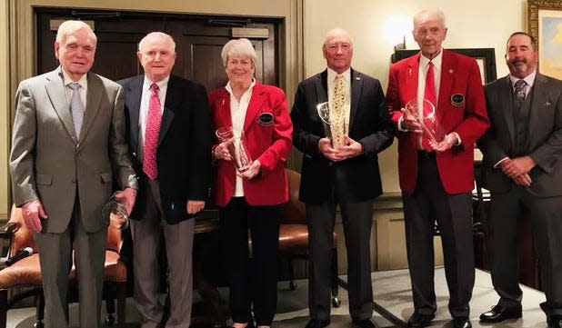
[[[70,105],[66,99],[65,84],[60,66],[45,77],[49,80],[49,82],[45,84],[45,89],[51,104],[53,104],[56,114],[65,126],[66,132],[72,140],[75,141],[75,144],[77,144],[75,127],[72,121],[72,114],[70,113]]]

